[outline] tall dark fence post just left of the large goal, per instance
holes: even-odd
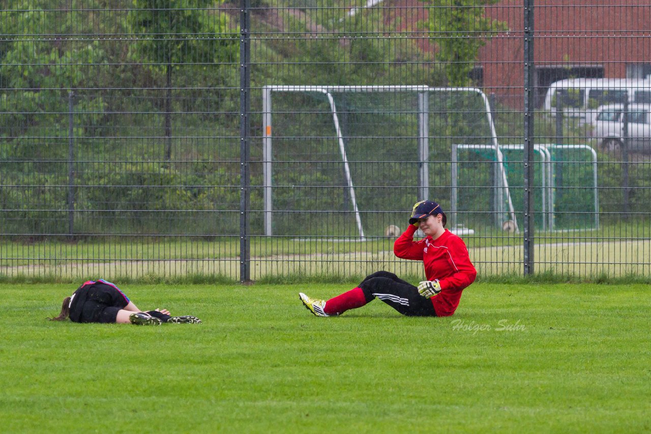
[[[251,0],[240,3],[240,282],[251,280],[251,241],[249,239],[249,127],[251,118],[251,47],[249,8]]]

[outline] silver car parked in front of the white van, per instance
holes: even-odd
[[[624,144],[624,123],[628,121],[630,152],[651,153],[651,104],[629,104],[624,113],[624,104],[602,105],[592,123],[597,148],[604,152],[619,152]]]

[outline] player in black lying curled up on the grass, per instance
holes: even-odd
[[[161,325],[162,323],[201,324],[196,316],[171,316],[167,309],[143,312],[115,284],[104,279],[84,282],[70,296],[63,299],[61,313],[51,321],[70,317],[75,323],[118,323]]]

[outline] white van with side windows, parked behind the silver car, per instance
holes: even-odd
[[[594,122],[600,105],[651,102],[651,80],[575,78],[555,81],[549,85],[544,110],[556,115],[557,98],[561,98],[563,113],[585,122]]]

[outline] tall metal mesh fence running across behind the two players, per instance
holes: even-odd
[[[651,274],[642,1],[5,1],[0,274]]]

